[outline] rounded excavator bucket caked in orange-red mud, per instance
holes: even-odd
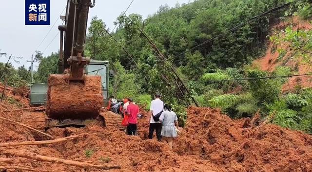
[[[47,115],[51,119],[96,119],[103,106],[100,76],[71,81],[68,74],[50,74]]]

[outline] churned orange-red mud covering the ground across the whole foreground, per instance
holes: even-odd
[[[27,98],[24,99],[27,101]],[[4,109],[15,108],[18,107],[2,103],[0,116],[44,131],[47,119],[44,112],[4,112]],[[156,141],[156,138],[146,139],[148,122],[145,118],[139,120],[139,136],[127,136],[123,132],[119,115],[111,112],[103,114],[107,123],[104,128],[99,121],[95,121],[85,128],[52,128],[45,131],[55,138],[87,133],[85,137],[48,145],[0,147],[0,167],[31,167],[33,171],[100,171],[5,156],[4,151],[87,161],[98,165],[120,165],[120,170],[111,170],[116,172],[312,171],[312,136],[273,124],[243,125],[244,119],[232,120],[218,110],[190,107],[187,126],[175,139],[174,150],[170,151],[167,145]],[[0,122],[0,143],[47,139],[20,125],[5,120]],[[3,158],[10,158],[13,163]]]

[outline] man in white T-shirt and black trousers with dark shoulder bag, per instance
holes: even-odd
[[[152,139],[153,138],[153,133],[154,130],[156,130],[156,136],[158,141],[161,141],[161,123],[160,121],[155,121],[152,117],[152,115],[157,115],[159,112],[163,111],[164,109],[164,103],[160,100],[160,94],[156,93],[155,94],[155,100],[151,102],[151,108],[150,108],[150,113],[148,118],[150,122],[150,131],[148,134],[148,138]]]

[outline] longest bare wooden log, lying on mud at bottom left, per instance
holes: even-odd
[[[56,157],[36,155],[36,154],[25,154],[25,153],[22,154],[19,152],[7,152],[4,150],[1,150],[1,154],[6,155],[6,156],[19,156],[23,158],[35,159],[37,161],[62,163],[62,164],[81,167],[81,168],[96,168],[96,169],[102,169],[102,170],[111,170],[111,169],[121,168],[119,165],[115,165],[115,166],[95,165],[95,164],[90,164],[88,162],[83,162],[83,161],[73,161],[73,160],[68,160],[68,159],[60,159]]]

